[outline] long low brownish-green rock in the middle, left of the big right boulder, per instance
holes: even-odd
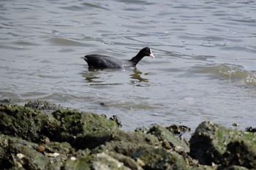
[[[98,131],[78,136],[72,146],[77,149],[94,149],[97,152],[113,151],[123,155],[131,155],[136,148],[143,144],[159,144],[158,139],[150,134],[124,131]]]

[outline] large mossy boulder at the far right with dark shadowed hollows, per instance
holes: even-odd
[[[256,134],[203,122],[190,139],[190,155],[201,164],[256,167]]]

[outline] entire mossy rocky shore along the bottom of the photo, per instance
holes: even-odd
[[[253,132],[203,122],[187,141],[170,127],[120,125],[48,102],[0,104],[0,169],[256,169]]]

